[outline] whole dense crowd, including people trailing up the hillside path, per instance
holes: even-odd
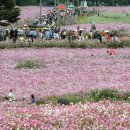
[[[65,40],[69,42],[73,40],[84,41],[86,39],[98,39],[101,43],[110,41],[127,40],[128,36],[118,34],[117,31],[96,30],[96,26],[92,25],[90,32],[86,32],[84,28],[77,26],[75,29],[65,29],[57,24],[58,19],[64,19],[66,15],[74,15],[74,11],[66,10],[48,10],[43,14],[41,19],[35,19],[32,26],[22,25],[19,28],[6,29],[4,40],[20,43],[33,43],[36,39],[41,40]]]

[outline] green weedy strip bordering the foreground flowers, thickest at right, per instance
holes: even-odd
[[[76,103],[85,103],[87,101],[90,102],[99,102],[102,100],[110,100],[110,101],[125,101],[130,103],[130,92],[119,92],[113,89],[97,89],[93,90],[89,93],[79,93],[79,94],[71,94],[71,95],[63,95],[63,96],[50,96],[45,99],[40,99],[37,101],[37,105],[52,103],[54,105],[58,104],[58,99],[66,99],[72,104]]]

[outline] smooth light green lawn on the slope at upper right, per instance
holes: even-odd
[[[123,16],[123,13],[102,12],[100,16],[97,14],[88,13],[86,16],[79,16],[78,22],[83,23],[130,23],[130,14]]]

